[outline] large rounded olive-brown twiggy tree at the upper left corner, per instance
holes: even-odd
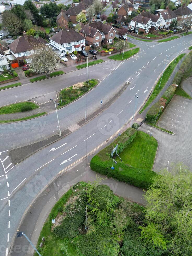
[[[8,28],[9,33],[13,36],[18,36],[18,34],[21,32],[22,26],[21,20],[18,18],[18,16],[12,11],[4,11],[1,17],[2,23]]]

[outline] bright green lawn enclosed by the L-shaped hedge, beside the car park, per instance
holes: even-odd
[[[149,134],[137,131],[133,141],[120,154],[124,163],[145,170],[152,170],[158,143]]]

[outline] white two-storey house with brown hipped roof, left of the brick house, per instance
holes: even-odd
[[[68,26],[60,30],[50,39],[50,44],[60,50],[63,55],[67,52],[71,54],[73,51],[85,49],[85,38],[73,28],[68,28]]]

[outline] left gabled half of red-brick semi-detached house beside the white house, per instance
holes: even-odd
[[[79,31],[79,33],[85,37],[86,45],[94,45],[97,48],[101,46],[102,34],[97,28],[87,24]]]

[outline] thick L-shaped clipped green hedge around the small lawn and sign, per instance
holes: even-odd
[[[118,144],[118,154],[120,154],[135,138],[137,130],[128,128],[108,147],[101,150],[95,155],[90,162],[93,171],[112,177],[118,181],[122,181],[142,189],[148,189],[151,179],[156,173],[150,170],[143,170],[117,161],[111,170],[113,159],[110,157],[111,151]],[[116,159],[118,160],[118,159]]]

